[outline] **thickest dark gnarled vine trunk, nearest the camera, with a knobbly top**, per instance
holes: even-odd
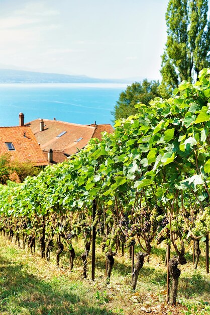
[[[170,271],[170,275],[172,276],[172,288],[171,294],[169,299],[169,304],[176,306],[176,297],[177,297],[177,290],[178,290],[178,279],[181,274],[181,270],[178,269],[178,265],[186,264],[186,259],[182,256],[180,257],[173,257],[169,260],[168,267]]]

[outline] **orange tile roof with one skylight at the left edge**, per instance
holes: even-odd
[[[6,142],[12,142],[15,150],[9,150]],[[35,166],[49,164],[32,129],[28,126],[0,127],[0,154],[5,153],[10,153],[12,161],[30,161]]]

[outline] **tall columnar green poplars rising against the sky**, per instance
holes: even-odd
[[[210,22],[207,0],[170,0],[166,12],[167,42],[162,55],[160,93],[169,97],[178,84],[197,78],[209,66]]]

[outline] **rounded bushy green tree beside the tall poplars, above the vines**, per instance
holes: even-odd
[[[145,79],[142,84],[135,82],[131,86],[120,94],[119,100],[115,105],[115,111],[112,112],[115,119],[127,118],[130,115],[135,115],[138,110],[135,105],[143,103],[148,105],[149,102],[155,97],[159,97],[160,93],[158,90],[159,82],[147,81]]]

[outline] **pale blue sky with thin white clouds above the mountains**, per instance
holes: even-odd
[[[167,4],[0,0],[0,63],[92,77],[158,79]]]

